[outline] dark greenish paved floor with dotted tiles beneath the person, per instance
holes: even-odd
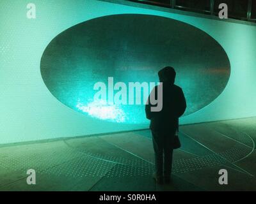
[[[0,191],[256,191],[256,117],[181,126],[180,140],[173,182],[162,186],[149,130],[1,147]]]

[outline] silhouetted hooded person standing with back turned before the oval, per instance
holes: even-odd
[[[152,140],[155,152],[156,171],[154,179],[161,184],[163,180],[170,182],[172,173],[172,154],[173,154],[173,138],[179,129],[179,117],[186,110],[186,99],[182,89],[175,85],[176,73],[172,67],[166,67],[158,72],[159,80],[163,84],[163,108],[159,112],[152,112],[150,97],[148,97],[148,105],[146,105],[147,119],[150,120],[150,129],[152,131]],[[161,91],[161,87],[157,85],[152,89],[150,96],[155,92]]]

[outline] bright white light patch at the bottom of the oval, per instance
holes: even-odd
[[[125,113],[119,105],[108,105],[106,101],[93,101],[83,105],[77,102],[76,107],[82,112],[88,113],[92,117],[102,120],[112,120],[115,122],[125,122]]]

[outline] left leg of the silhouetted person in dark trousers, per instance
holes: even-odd
[[[152,131],[152,141],[155,152],[155,179],[157,182],[163,182],[163,141],[161,141],[161,136]]]

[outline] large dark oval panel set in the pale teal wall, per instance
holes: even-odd
[[[157,72],[168,65],[187,98],[184,115],[217,98],[230,76],[227,54],[211,36],[178,20],[138,14],[93,18],[63,31],[45,49],[40,69],[49,91],[70,108],[112,122],[147,124],[150,82],[157,84]],[[104,99],[93,99],[98,82],[106,85]],[[138,86],[140,93],[131,82],[147,84]],[[111,105],[116,96],[122,104]]]

